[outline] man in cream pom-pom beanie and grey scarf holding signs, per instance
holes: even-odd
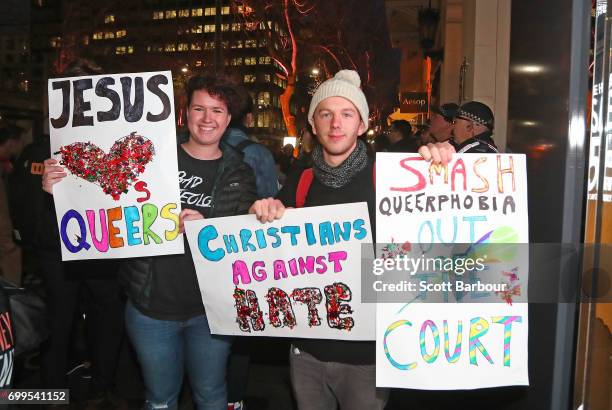
[[[374,232],[374,160],[357,138],[367,131],[369,115],[360,83],[357,72],[342,70],[319,86],[308,110],[319,142],[312,151],[313,167],[289,175],[276,199],[262,199],[251,206],[249,212],[261,222],[281,218],[285,207],[367,202]],[[440,162],[450,157],[431,144],[422,149],[426,159]],[[338,406],[375,410],[386,404],[388,390],[376,389],[373,341],[296,339],[290,366],[300,410],[335,410]]]

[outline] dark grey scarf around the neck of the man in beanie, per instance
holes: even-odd
[[[323,147],[317,144],[312,151],[313,172],[315,177],[331,188],[340,188],[349,183],[351,178],[368,164],[368,153],[365,142],[357,140],[357,146],[347,159],[337,167],[329,166],[323,159]]]

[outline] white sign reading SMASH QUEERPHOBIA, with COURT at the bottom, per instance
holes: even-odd
[[[503,245],[528,242],[525,156],[454,155],[443,167],[415,154],[377,154],[376,164],[377,257],[477,261],[470,272],[420,272],[427,290],[404,303],[383,303],[381,294],[377,386],[527,385],[527,304],[513,298],[525,296],[528,263]],[[478,291],[485,274],[506,290]],[[472,290],[453,289],[466,283]],[[428,297],[447,302],[421,303]]]

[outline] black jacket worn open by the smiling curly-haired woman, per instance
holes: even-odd
[[[222,144],[222,161],[212,190],[209,218],[246,214],[257,199],[253,170],[242,161],[234,148]],[[148,310],[153,282],[153,258],[126,259],[119,268],[119,278],[127,295],[137,307]]]

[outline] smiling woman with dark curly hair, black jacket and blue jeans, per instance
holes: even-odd
[[[257,198],[253,171],[235,149],[221,143],[242,106],[240,98],[237,84],[224,75],[197,76],[187,83],[189,139],[177,147],[181,233],[184,221],[246,214]],[[48,192],[57,180],[56,168],[45,166]],[[120,278],[128,294],[126,328],[145,382],[145,408],[177,409],[186,372],[197,409],[226,410],[232,338],[210,333],[188,244],[182,255],[127,259]]]

